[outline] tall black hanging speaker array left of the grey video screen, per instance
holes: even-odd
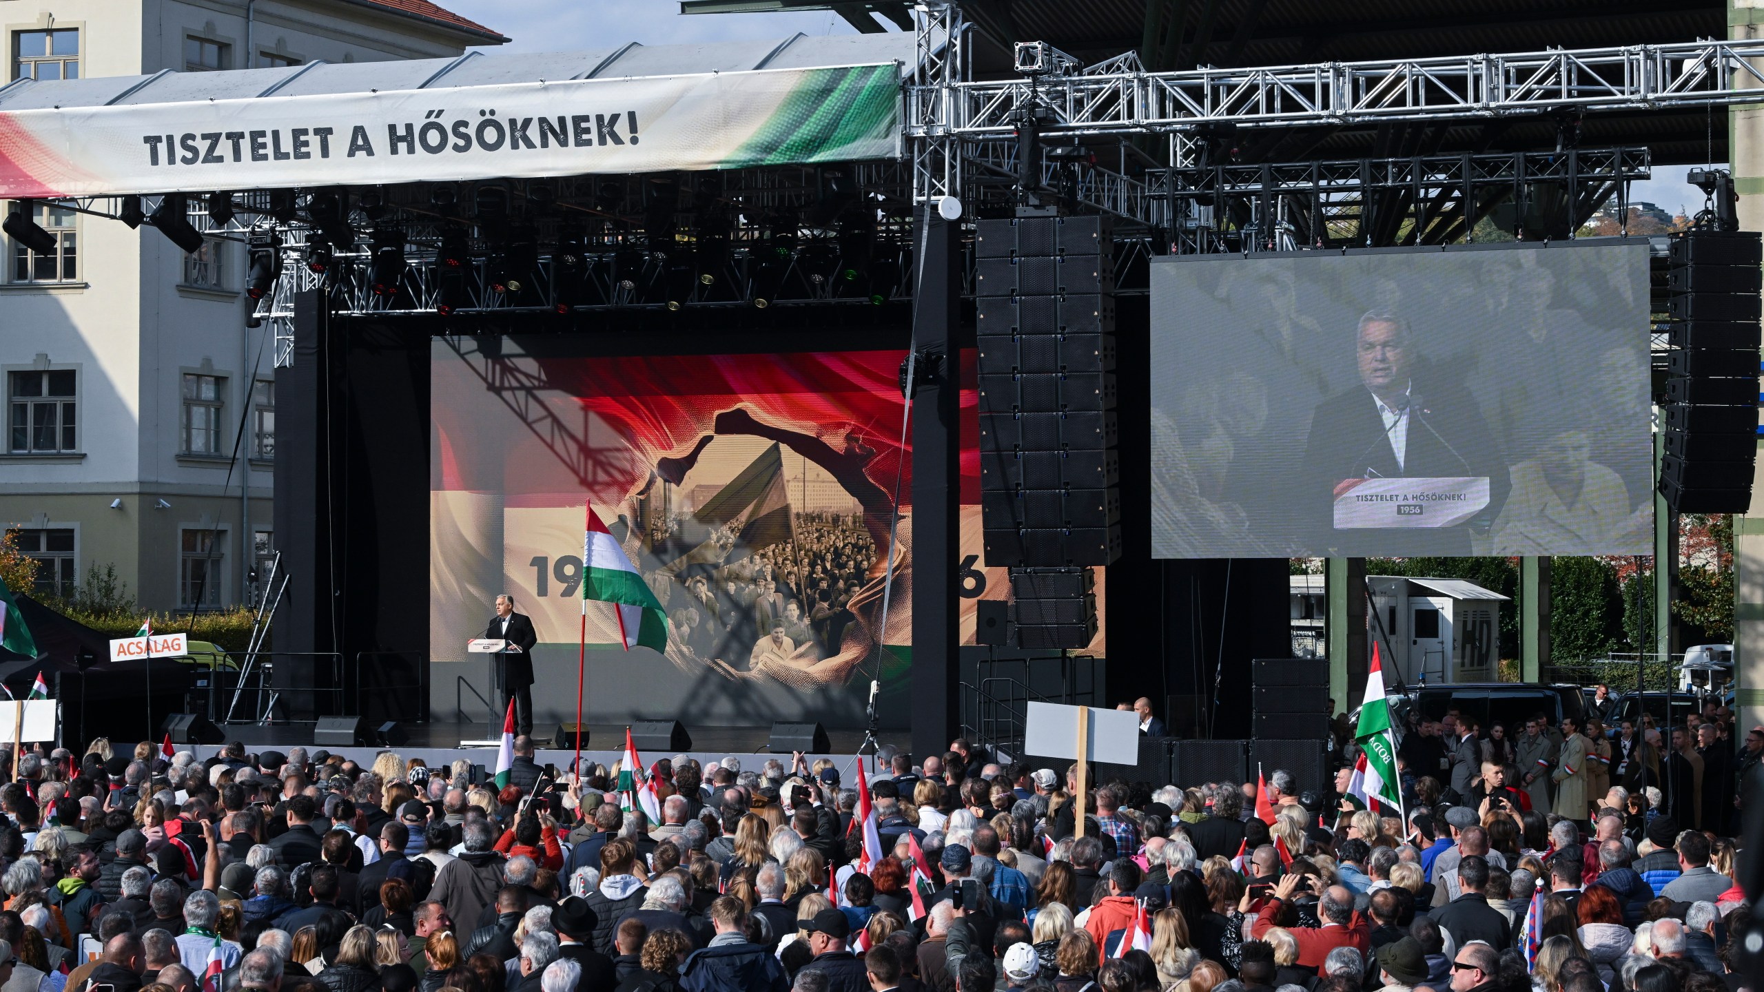
[[[1021,648],[1095,635],[1094,565],[1120,556],[1115,259],[1102,217],[981,221],[981,524]]]

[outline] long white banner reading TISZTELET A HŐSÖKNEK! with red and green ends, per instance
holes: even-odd
[[[900,154],[896,64],[0,113],[0,198],[653,173]]]

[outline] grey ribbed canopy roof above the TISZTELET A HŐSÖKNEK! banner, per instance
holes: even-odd
[[[459,58],[402,62],[307,62],[280,69],[231,69],[90,79],[16,79],[0,86],[0,111],[166,104],[250,97],[365,94],[370,90],[437,90],[561,79],[621,79],[751,69],[808,69],[916,58],[910,32],[804,35],[783,41],[704,44],[623,44],[593,51],[503,53],[467,51]]]

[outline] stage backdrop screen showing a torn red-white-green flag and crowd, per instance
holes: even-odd
[[[884,715],[907,717],[912,450],[900,349],[580,355],[563,339],[432,346],[430,644],[483,681],[464,641],[497,593],[533,618],[534,710],[573,718],[584,503],[669,612],[663,653],[619,648],[587,604],[591,720],[691,713],[700,724],[861,725],[880,651]],[[972,387],[972,353],[963,357]],[[981,556],[975,394],[963,388],[961,542],[933,549],[975,600],[1004,598]],[[894,586],[884,567],[900,494]],[[1101,635],[1092,653],[1101,653]],[[436,680],[452,685],[446,673]],[[443,704],[453,701],[453,688]],[[467,695],[469,699],[469,695]],[[478,710],[483,706],[478,704]],[[467,706],[467,710],[471,710]]]

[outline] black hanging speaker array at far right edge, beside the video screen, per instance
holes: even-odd
[[[1757,231],[1693,228],[1672,235],[1660,494],[1676,514],[1743,514],[1752,507],[1760,261]]]

